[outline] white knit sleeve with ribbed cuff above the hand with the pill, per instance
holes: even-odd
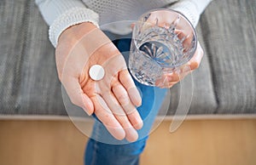
[[[56,47],[62,31],[69,26],[91,22],[98,26],[99,16],[81,0],[35,0],[49,25],[49,41]]]

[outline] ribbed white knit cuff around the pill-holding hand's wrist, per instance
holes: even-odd
[[[91,9],[73,8],[67,10],[54,20],[53,24],[49,26],[49,41],[54,47],[57,46],[58,39],[61,33],[68,27],[77,25],[82,22],[91,22],[98,26],[99,15]]]

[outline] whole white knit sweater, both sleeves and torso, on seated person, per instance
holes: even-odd
[[[49,25],[49,40],[56,46],[61,32],[69,26],[90,21],[96,26],[121,20],[137,20],[150,9],[168,8],[184,14],[196,26],[200,14],[212,0],[36,0],[44,20]],[[125,21],[125,22],[131,22]],[[104,26],[117,34],[131,32],[124,23]]]

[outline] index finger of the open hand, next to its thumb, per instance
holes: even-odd
[[[108,129],[108,132],[113,135],[115,139],[124,139],[125,130],[119,124],[117,119],[113,116],[112,111],[109,110],[108,105],[102,99],[101,96],[96,95],[91,98],[95,105],[95,114],[96,117],[104,124]]]

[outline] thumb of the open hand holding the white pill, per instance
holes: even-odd
[[[79,84],[79,79],[76,77],[63,77],[61,81],[71,102],[83,108],[88,115],[91,115],[94,111],[94,106],[90,98],[84,94]]]

